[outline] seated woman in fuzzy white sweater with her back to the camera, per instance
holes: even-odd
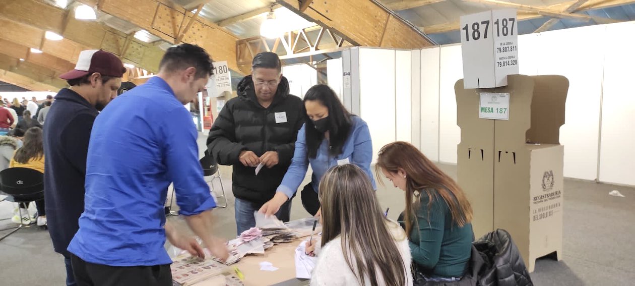
[[[322,247],[311,285],[412,285],[406,233],[382,213],[361,168],[345,164],[328,170],[319,198]]]

